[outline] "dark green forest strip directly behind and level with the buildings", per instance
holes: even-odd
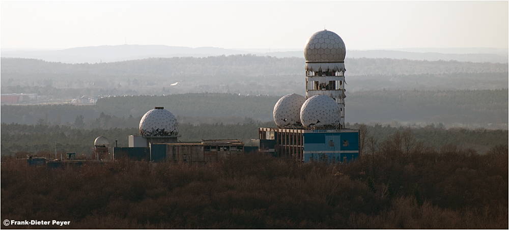
[[[107,116],[101,116],[97,123],[107,123]],[[78,155],[89,155],[92,151],[96,137],[105,136],[110,144],[118,140],[120,147],[128,146],[128,135],[139,133],[137,126],[132,128],[79,128],[82,123],[76,121],[73,125],[50,126],[20,125],[2,123],[0,146],[2,156],[17,155],[24,157],[27,154],[47,156],[48,153],[57,154],[68,152]],[[200,141],[202,139],[240,139],[250,145],[250,139],[258,138],[258,128],[275,127],[274,122],[256,123],[245,119],[243,124],[179,124],[180,141]],[[359,124],[347,124],[347,128],[359,128]],[[412,136],[422,146],[437,148],[444,145],[454,145],[464,149],[471,149],[479,154],[486,153],[490,148],[504,145],[509,138],[507,130],[486,129],[445,129],[442,124],[433,124],[422,128],[409,128],[404,126],[367,125],[367,138],[371,138],[372,148],[379,148],[380,143],[398,132],[411,131]]]

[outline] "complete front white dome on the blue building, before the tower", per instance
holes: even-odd
[[[329,96],[315,95],[302,105],[300,121],[307,129],[337,129],[341,124],[340,106]]]

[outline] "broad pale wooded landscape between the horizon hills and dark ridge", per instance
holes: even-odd
[[[1,62],[2,92],[42,94],[41,87],[49,85],[57,89],[42,95],[68,99],[86,94],[201,92],[282,96],[303,94],[305,89],[305,60],[297,57],[172,57],[96,64],[2,58]],[[350,92],[384,88],[493,90],[508,85],[507,63],[347,58],[345,66]]]

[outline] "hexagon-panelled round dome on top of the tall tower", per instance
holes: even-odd
[[[343,39],[332,31],[319,31],[304,47],[304,57],[310,62],[343,62],[346,48]]]

